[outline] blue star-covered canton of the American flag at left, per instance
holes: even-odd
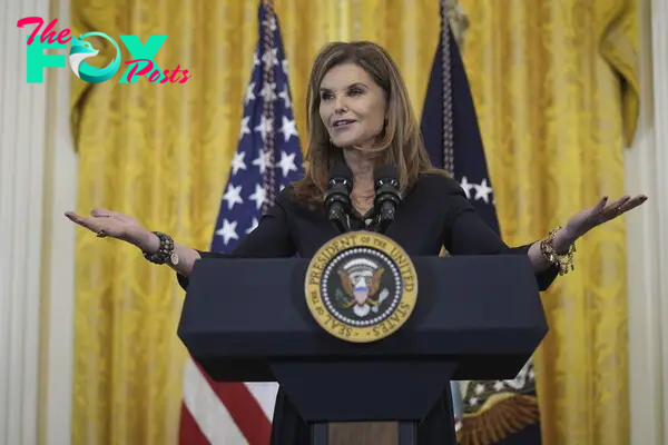
[[[244,116],[239,140],[229,179],[220,202],[212,250],[232,251],[249,234],[262,217],[262,207],[268,198],[264,188],[265,169],[274,169],[277,196],[283,188],[303,176],[302,151],[291,102],[287,60],[283,50],[276,16],[267,19],[264,4],[258,10],[258,41],[253,55],[253,72],[244,96]],[[263,32],[269,20],[273,48],[265,52]],[[273,82],[266,82],[263,66],[273,71]],[[265,103],[273,106],[273,119],[265,116]],[[273,131],[274,162],[264,154],[268,135]],[[272,202],[273,204],[273,202]]]

